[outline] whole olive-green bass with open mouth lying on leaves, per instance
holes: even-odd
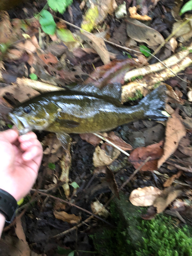
[[[67,147],[71,133],[98,133],[114,130],[134,120],[164,121],[166,87],[159,86],[137,105],[121,104],[121,85],[108,84],[98,89],[92,84],[65,91],[41,94],[8,114],[19,134],[32,130],[56,133]]]

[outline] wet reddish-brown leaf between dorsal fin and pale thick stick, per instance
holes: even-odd
[[[124,84],[126,72],[139,65],[134,59],[114,59],[108,65],[97,67],[85,83],[93,83],[99,88],[103,88],[105,84],[109,83],[119,82]]]

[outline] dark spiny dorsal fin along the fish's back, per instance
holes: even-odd
[[[106,84],[102,89],[94,86],[93,83],[88,83],[86,85],[77,84],[71,91],[83,92],[87,94],[92,94],[95,96],[101,96],[105,99],[115,100],[118,103],[121,102],[121,84],[120,83],[109,83]]]

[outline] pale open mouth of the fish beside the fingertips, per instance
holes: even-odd
[[[26,121],[26,119],[24,117],[18,117],[17,115],[15,115],[13,113],[9,113],[8,117],[14,123],[14,125],[17,127],[19,135],[24,135],[33,129],[33,127],[28,124],[28,122]]]

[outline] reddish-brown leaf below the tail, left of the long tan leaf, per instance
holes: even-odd
[[[133,164],[133,166],[137,169],[147,157],[151,157],[152,159],[149,160],[141,170],[156,170],[158,159],[163,154],[163,141],[159,143],[155,143],[146,147],[137,147],[134,151],[131,152],[129,161]]]

